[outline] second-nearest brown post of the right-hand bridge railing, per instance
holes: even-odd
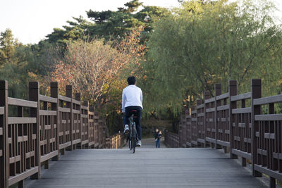
[[[231,96],[237,95],[237,81],[229,80],[228,82],[228,92],[229,92],[229,142],[230,142],[230,157],[238,158],[238,156],[232,153],[232,149],[234,147],[234,132],[233,132],[233,122],[235,119],[232,115],[232,109],[237,108],[237,102],[231,101]]]

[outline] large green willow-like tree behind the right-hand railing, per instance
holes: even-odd
[[[238,80],[239,92],[250,90],[252,77],[277,83],[277,77],[269,76],[281,77],[279,69],[269,66],[281,68],[282,36],[269,15],[273,8],[267,1],[259,6],[252,1],[243,6],[225,0],[188,1],[155,23],[144,63],[151,82],[145,83],[150,109],[177,113],[183,99],[201,98],[203,89],[213,93],[217,82],[227,92],[230,79]]]

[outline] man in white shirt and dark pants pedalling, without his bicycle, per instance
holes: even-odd
[[[122,112],[125,113],[124,118],[124,133],[129,132],[129,120],[130,115],[135,111],[136,115],[136,130],[138,134],[138,142],[136,146],[141,146],[141,124],[140,119],[142,115],[142,90],[136,86],[136,79],[134,76],[128,77],[128,87],[123,89],[122,98]]]

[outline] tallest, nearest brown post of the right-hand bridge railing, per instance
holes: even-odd
[[[258,122],[255,121],[255,115],[261,113],[260,105],[254,105],[254,99],[262,97],[262,80],[252,79],[251,81],[251,106],[252,106],[252,175],[255,177],[261,177],[262,173],[255,170],[255,164],[257,163],[257,142],[255,142],[255,132],[258,130]]]

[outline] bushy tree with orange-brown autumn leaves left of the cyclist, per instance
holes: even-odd
[[[122,70],[138,65],[144,54],[139,36],[140,32],[135,30],[121,42],[107,43],[104,39],[68,42],[51,76],[61,87],[72,84],[82,99],[94,106],[110,103],[118,108],[125,87]]]

